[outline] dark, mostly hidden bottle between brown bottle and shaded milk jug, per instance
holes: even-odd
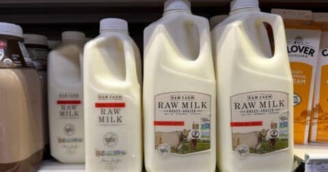
[[[49,145],[49,120],[48,120],[48,91],[46,91],[46,61],[48,59],[49,47],[47,38],[44,35],[24,34],[24,44],[29,56],[33,61],[33,65],[38,71],[42,87],[42,116],[44,130],[44,158],[50,157]]]

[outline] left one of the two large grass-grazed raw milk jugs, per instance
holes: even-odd
[[[144,31],[146,170],[215,171],[215,72],[206,18],[165,2]]]

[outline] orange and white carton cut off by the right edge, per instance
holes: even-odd
[[[309,141],[328,142],[328,13],[312,13],[312,20],[320,25],[321,38]]]

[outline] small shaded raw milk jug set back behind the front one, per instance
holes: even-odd
[[[48,57],[51,155],[63,163],[85,161],[81,61],[84,33],[65,31]]]

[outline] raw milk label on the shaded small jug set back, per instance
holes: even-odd
[[[77,154],[84,144],[83,128],[77,123],[83,118],[83,107],[79,94],[61,93],[57,100],[57,119],[62,121],[58,126],[62,134],[57,136],[57,142],[66,154]]]

